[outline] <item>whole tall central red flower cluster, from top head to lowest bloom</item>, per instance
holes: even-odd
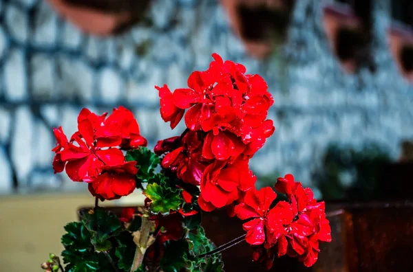
[[[207,71],[189,76],[189,88],[171,93],[167,85],[156,87],[163,120],[175,128],[184,117],[187,130],[158,141],[155,152],[167,153],[163,168],[201,185],[198,203],[206,211],[229,205],[253,188],[248,159],[275,130],[273,121],[266,120],[273,104],[266,82],[245,74],[243,65],[224,62],[218,54],[213,58]]]

